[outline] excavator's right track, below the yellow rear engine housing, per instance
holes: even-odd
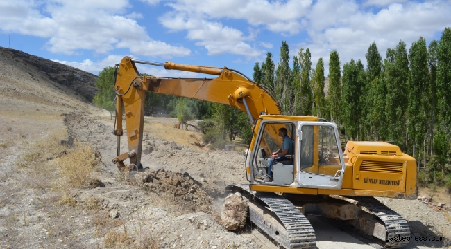
[[[384,223],[386,228],[386,239],[389,239],[389,241],[384,241],[386,243],[381,246],[384,248],[402,248],[409,243],[408,241],[399,239],[393,239],[393,241],[390,239],[410,236],[409,224],[398,213],[387,208],[386,205],[380,203],[380,201],[377,201],[374,197],[352,196],[348,198],[358,201],[357,205],[361,206],[362,209],[368,210]]]

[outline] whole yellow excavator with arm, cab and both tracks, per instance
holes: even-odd
[[[164,66],[214,78],[153,77],[140,75],[136,64]],[[116,65],[117,157],[119,170],[142,169],[140,163],[146,91],[227,104],[248,114],[253,138],[243,169],[249,184],[228,185],[226,194],[239,192],[249,201],[248,216],[275,243],[284,248],[314,248],[314,229],[306,216],[323,216],[364,234],[372,246],[407,245],[409,225],[375,196],[416,199],[417,168],[411,156],[388,142],[349,141],[341,147],[334,122],[314,116],[284,116],[278,100],[266,87],[239,71],[224,67],[144,62],[124,57]],[[121,153],[125,114],[128,151]],[[292,139],[293,154],[272,165],[268,158],[282,145],[284,128]],[[124,161],[128,160],[128,163]]]

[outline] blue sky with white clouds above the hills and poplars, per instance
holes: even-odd
[[[451,27],[451,0],[0,0],[0,46],[97,74],[125,55],[152,62],[228,66],[252,77],[267,52],[279,62],[309,48],[312,64],[336,49],[341,66],[366,64],[376,42],[382,57],[400,40],[429,44]],[[292,64],[292,59],[290,61]],[[139,66],[141,73],[194,73]]]

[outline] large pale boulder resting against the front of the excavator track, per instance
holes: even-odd
[[[248,215],[248,203],[239,193],[230,194],[224,201],[221,210],[222,225],[227,230],[237,230],[246,225],[246,217]]]

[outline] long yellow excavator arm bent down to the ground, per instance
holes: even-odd
[[[141,76],[136,63],[164,66],[167,70],[217,75],[217,77],[207,79]],[[278,101],[266,87],[253,82],[238,71],[226,67],[190,66],[172,62],[155,64],[124,57],[119,64],[114,91],[117,93],[114,135],[118,136],[118,149],[113,163],[119,169],[124,167],[123,162],[127,158],[130,160],[131,169],[140,168],[146,91],[227,104],[248,113],[253,124],[261,114],[280,114],[282,112]],[[121,154],[119,139],[124,132],[121,115],[123,110],[126,115],[128,151]]]

